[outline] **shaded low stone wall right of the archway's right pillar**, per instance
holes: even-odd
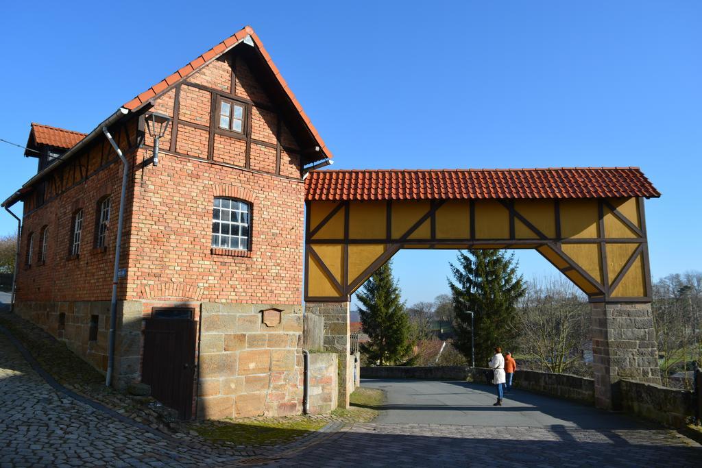
[[[695,414],[694,392],[631,380],[619,380],[618,387],[626,413],[670,427],[684,427],[687,418]]]

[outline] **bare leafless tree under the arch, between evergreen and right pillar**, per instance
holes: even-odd
[[[583,362],[590,307],[565,279],[531,281],[519,307],[515,328],[519,354],[536,361],[543,370],[566,373]]]

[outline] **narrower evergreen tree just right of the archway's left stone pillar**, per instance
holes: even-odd
[[[373,273],[356,297],[364,307],[359,307],[363,331],[371,339],[361,352],[380,366],[402,362],[412,349],[411,326],[390,262]]]

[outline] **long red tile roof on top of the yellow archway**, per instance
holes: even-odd
[[[307,201],[661,196],[639,168],[313,171],[305,188]]]

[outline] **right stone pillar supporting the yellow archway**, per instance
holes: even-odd
[[[592,303],[592,368],[595,406],[618,409],[620,379],[661,383],[650,303]]]

